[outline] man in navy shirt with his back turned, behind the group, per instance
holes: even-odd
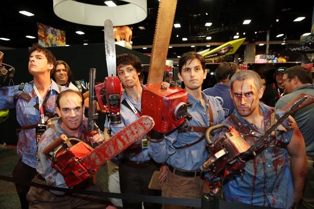
[[[217,84],[212,88],[203,90],[208,95],[215,97],[223,106],[225,118],[227,118],[234,110],[233,102],[230,96],[229,82],[230,78],[238,72],[240,67],[233,62],[221,63],[215,71]]]

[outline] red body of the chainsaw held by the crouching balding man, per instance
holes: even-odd
[[[68,149],[60,150],[56,155],[57,161],[52,161],[51,165],[63,176],[66,185],[72,187],[94,175],[98,170],[99,167],[88,170],[86,165],[80,162],[93,151],[93,148],[83,141],[78,142]]]

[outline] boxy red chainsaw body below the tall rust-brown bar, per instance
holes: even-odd
[[[146,85],[142,93],[142,115],[154,119],[154,131],[168,133],[180,126],[185,119],[188,93],[168,82]]]

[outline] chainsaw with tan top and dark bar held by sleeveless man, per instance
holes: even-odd
[[[278,126],[281,125],[289,115],[298,110],[300,104],[302,104],[307,98],[308,96],[302,95],[302,97],[300,97],[297,101],[294,101],[292,105],[285,108],[287,109],[285,113],[252,146],[246,142],[241,133],[236,131],[233,126],[228,124],[218,124],[216,126],[209,127],[205,131],[205,138],[208,143],[210,154],[200,169],[202,171],[208,171],[211,179],[215,179],[217,177],[223,179],[238,173],[244,169],[247,161],[253,159],[257,156],[257,154],[261,153],[268,147],[268,144],[270,144],[271,141],[267,142],[267,139],[271,133],[276,131]],[[304,107],[304,105],[302,107]],[[213,131],[221,128],[228,129],[228,132],[217,137],[213,143]]]

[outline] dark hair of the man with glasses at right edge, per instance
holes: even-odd
[[[285,74],[290,80],[296,76],[302,84],[312,83],[311,71],[300,65],[286,69]]]

